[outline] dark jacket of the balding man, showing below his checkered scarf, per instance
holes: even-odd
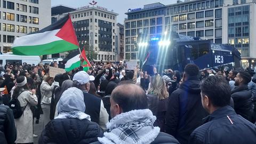
[[[175,139],[172,135],[160,132],[156,139],[150,144],[178,144],[179,141]],[[99,141],[93,142],[91,144],[100,144]]]

